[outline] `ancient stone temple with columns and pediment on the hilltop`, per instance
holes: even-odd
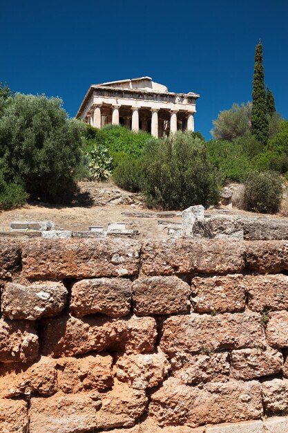
[[[169,92],[151,77],[93,84],[76,117],[96,128],[112,123],[158,137],[177,130],[194,131],[198,98],[193,92]]]

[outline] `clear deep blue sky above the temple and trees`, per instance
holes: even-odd
[[[200,93],[195,129],[251,100],[262,39],[265,82],[288,118],[288,0],[0,0],[0,81],[59,96],[75,116],[90,84],[149,75]]]

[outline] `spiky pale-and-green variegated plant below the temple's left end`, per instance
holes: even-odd
[[[104,145],[95,146],[88,153],[90,178],[94,181],[108,181],[111,176],[112,157]]]

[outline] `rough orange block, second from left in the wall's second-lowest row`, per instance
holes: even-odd
[[[79,358],[54,360],[59,391],[77,394],[81,391],[104,391],[113,385],[113,358],[108,353],[92,353]]]

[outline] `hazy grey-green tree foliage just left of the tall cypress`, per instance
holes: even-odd
[[[214,128],[211,130],[215,140],[228,140],[241,137],[251,129],[251,102],[247,104],[233,104],[229,110],[220,111],[218,118],[213,120]]]

